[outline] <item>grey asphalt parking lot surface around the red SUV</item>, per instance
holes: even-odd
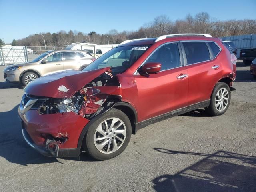
[[[23,90],[0,74],[0,190],[256,191],[256,80],[249,70],[237,63],[237,91],[224,115],[199,109],[151,124],[107,161],[84,152],[80,160],[48,158],[30,148],[17,117]]]

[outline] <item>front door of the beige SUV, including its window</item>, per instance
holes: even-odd
[[[48,60],[47,63],[40,63],[39,68],[42,75],[48,75],[55,72],[63,71],[63,64],[62,64],[62,53],[57,52],[54,53],[46,58],[44,60]]]

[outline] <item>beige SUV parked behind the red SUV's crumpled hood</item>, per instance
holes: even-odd
[[[15,64],[4,69],[8,82],[19,82],[26,86],[29,82],[64,70],[82,70],[95,58],[86,51],[58,50],[48,51],[29,63]]]

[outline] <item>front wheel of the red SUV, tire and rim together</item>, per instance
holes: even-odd
[[[83,148],[96,160],[108,160],[121,154],[132,134],[129,118],[118,109],[91,120]]]

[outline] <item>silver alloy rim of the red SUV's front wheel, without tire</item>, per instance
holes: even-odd
[[[109,154],[116,152],[126,138],[126,126],[116,117],[102,121],[94,133],[94,144],[98,151]]]

